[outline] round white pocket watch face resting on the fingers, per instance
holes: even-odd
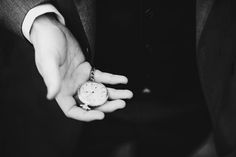
[[[78,97],[85,105],[99,106],[107,101],[108,92],[103,84],[88,81],[80,87]]]

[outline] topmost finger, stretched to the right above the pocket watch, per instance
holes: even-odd
[[[100,70],[97,69],[94,72],[94,79],[97,82],[102,82],[107,84],[128,83],[128,79],[125,76],[101,72]]]

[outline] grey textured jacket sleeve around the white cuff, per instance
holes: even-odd
[[[49,0],[0,0],[0,24],[10,31],[23,36],[21,26],[27,12]]]

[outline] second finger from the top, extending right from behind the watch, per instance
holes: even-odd
[[[133,93],[130,90],[118,90],[114,88],[107,88],[110,99],[131,99]]]

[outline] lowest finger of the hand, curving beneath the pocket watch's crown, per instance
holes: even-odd
[[[75,99],[72,96],[57,96],[57,103],[62,111],[69,118],[89,122],[93,120],[101,120],[104,118],[104,113],[98,110],[86,111],[76,106]]]

